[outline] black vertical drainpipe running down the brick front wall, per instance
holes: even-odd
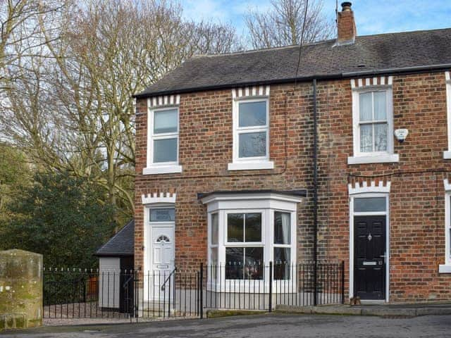
[[[316,79],[313,79],[313,261],[314,261],[314,305],[318,298],[318,111],[316,109]]]

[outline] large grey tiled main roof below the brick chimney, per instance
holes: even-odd
[[[302,47],[299,81],[349,77],[355,72],[395,73],[393,68],[445,68],[451,63],[451,28],[367,35],[357,37],[354,44],[334,45],[332,39]],[[195,56],[137,97],[292,82],[298,58],[299,46]]]

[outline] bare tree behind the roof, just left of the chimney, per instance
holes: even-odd
[[[311,0],[304,24],[306,0],[271,0],[267,13],[250,10],[246,17],[250,43],[255,49],[314,42],[333,36],[333,23],[323,15],[323,1]]]

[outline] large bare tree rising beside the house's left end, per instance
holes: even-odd
[[[187,21],[180,5],[166,0],[68,3],[39,15],[38,24],[44,43],[23,60],[1,102],[3,134],[44,168],[69,170],[104,187],[109,203],[130,215],[132,94],[193,54],[240,48],[235,30]]]

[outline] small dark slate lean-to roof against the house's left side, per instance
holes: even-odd
[[[96,256],[123,257],[135,254],[135,220],[130,220],[117,234],[106,242]]]

